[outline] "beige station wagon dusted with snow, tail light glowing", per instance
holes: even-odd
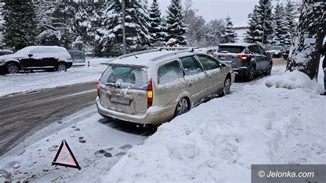
[[[231,67],[193,49],[136,52],[109,63],[96,105],[105,118],[160,125],[209,96],[228,94],[234,80]]]

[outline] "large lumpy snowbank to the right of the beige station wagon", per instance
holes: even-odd
[[[251,164],[325,164],[326,98],[235,84],[160,126],[104,182],[250,182]]]

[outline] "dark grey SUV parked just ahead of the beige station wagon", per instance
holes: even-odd
[[[257,44],[221,44],[215,52],[215,58],[221,63],[232,66],[237,76],[243,76],[247,80],[252,80],[258,73],[268,76],[272,72],[272,58]]]

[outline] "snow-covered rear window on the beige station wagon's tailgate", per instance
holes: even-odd
[[[145,67],[111,65],[107,68],[100,83],[126,89],[147,89],[147,74]]]

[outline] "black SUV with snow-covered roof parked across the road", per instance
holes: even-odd
[[[20,70],[47,69],[64,72],[72,67],[72,56],[64,47],[28,46],[0,56],[0,72],[17,74]]]

